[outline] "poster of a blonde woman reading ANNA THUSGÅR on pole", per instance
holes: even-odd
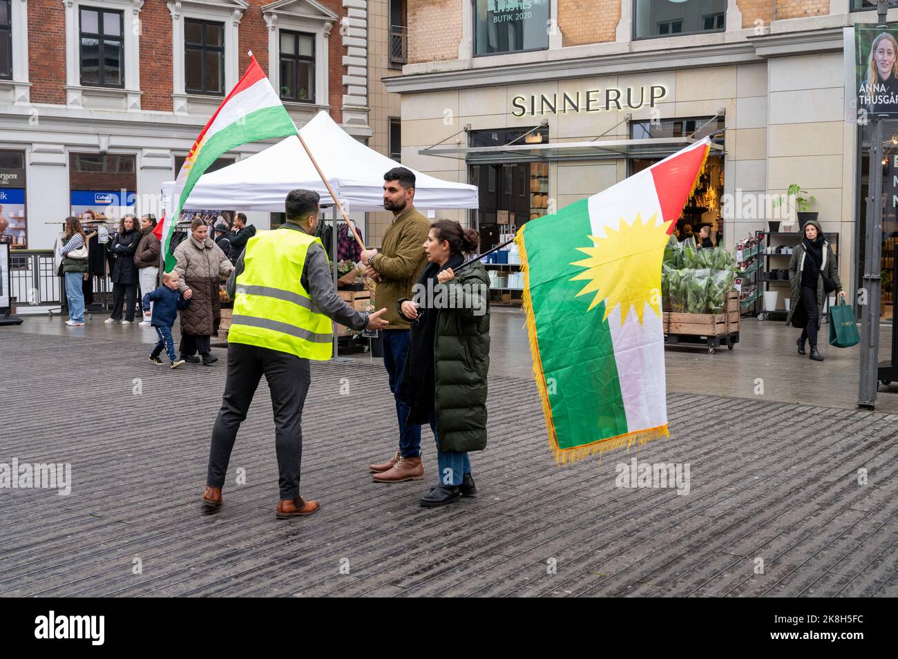
[[[898,40],[891,31],[859,28],[857,43],[858,108],[898,114]]]

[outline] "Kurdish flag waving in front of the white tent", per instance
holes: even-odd
[[[259,62],[250,54],[250,67],[200,131],[180,167],[174,186],[175,207],[171,213],[164,215],[163,222],[156,225],[156,236],[163,243],[165,272],[174,268],[174,256],[169,246],[180,209],[209,165],[234,146],[291,135],[296,135],[293,119],[287,114]]]

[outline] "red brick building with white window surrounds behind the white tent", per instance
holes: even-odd
[[[246,70],[249,51],[281,92],[297,127],[324,110],[368,142],[375,136],[373,113],[378,125],[381,115],[398,115],[398,97],[391,105],[379,79],[368,79],[369,58],[376,57],[371,46],[383,48],[389,36],[383,22],[369,25],[367,4],[15,0],[12,69],[9,75],[0,71],[0,170],[22,171],[18,180],[24,183],[17,185],[24,201],[4,212],[25,229],[3,240],[32,249],[52,246],[57,226],[47,223],[69,215],[75,191],[92,188],[89,171],[72,171],[69,156],[75,153],[125,156],[113,160],[118,167],[134,163],[136,189],[128,189],[121,203],[129,211],[158,214],[161,184],[175,177],[179,158]],[[201,35],[197,48],[195,34]],[[295,49],[287,65],[284,48]],[[201,63],[201,74],[193,62]],[[197,81],[202,91],[191,87]],[[389,107],[381,111],[377,102]],[[383,140],[375,141],[386,154]],[[227,158],[240,160],[267,145],[244,145]],[[101,177],[95,180],[93,189],[109,192],[100,189]],[[269,219],[267,213],[251,214],[251,222],[262,227]],[[364,215],[358,219],[364,224]]]

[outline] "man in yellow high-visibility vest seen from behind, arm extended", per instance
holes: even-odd
[[[286,223],[254,235],[228,279],[233,318],[228,330],[227,381],[212,429],[203,505],[222,505],[233,443],[262,375],[269,383],[280,473],[277,518],[312,514],[317,501],[299,496],[302,417],[309,360],[330,359],[330,321],[352,329],[383,329],[378,312],[357,312],[334,289],[318,225],[319,196],[297,189],[286,196]]]

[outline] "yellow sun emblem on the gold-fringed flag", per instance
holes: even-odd
[[[637,215],[633,224],[621,223],[615,229],[605,227],[605,237],[591,235],[593,247],[578,247],[588,259],[575,261],[572,266],[587,268],[571,281],[589,282],[577,293],[594,293],[589,309],[605,303],[604,320],[621,306],[621,325],[631,311],[642,323],[646,304],[661,316],[661,262],[664,260],[669,223],[656,224],[656,215],[642,221]]]

